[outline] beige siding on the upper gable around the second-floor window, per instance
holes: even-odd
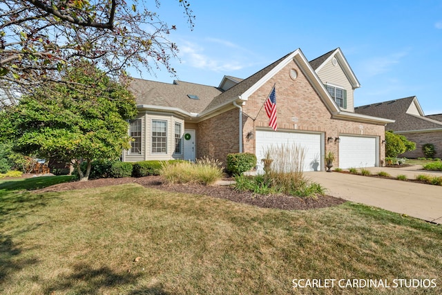
[[[345,75],[343,69],[340,67],[339,61],[338,64],[334,66],[332,60],[330,60],[317,74],[324,84],[333,84],[347,91],[347,108],[345,108],[344,111],[354,113],[354,90],[352,84],[350,84],[347,79],[347,75]]]

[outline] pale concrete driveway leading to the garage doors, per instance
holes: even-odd
[[[419,168],[419,166],[414,166],[403,169],[385,167],[367,169],[373,174],[377,171],[385,171],[393,176],[407,175],[410,179],[414,179],[415,175],[419,174],[442,176],[441,172],[430,173],[419,171]],[[330,196],[442,224],[441,186],[338,172],[306,172],[305,175],[311,181],[325,187]]]

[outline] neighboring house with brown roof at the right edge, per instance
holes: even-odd
[[[358,106],[356,113],[381,116],[395,120],[385,126],[385,130],[404,135],[407,140],[416,142],[416,150],[403,153],[407,158],[425,157],[423,144],[434,144],[436,153],[442,156],[442,114],[425,116],[417,97],[410,96],[388,102],[378,102]]]

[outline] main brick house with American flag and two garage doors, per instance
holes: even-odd
[[[278,131],[269,127],[263,105],[276,87]],[[340,48],[307,61],[300,49],[247,79],[224,76],[218,87],[174,81],[133,79],[140,111],[130,123],[132,148],[124,161],[204,156],[226,161],[227,154],[255,153],[271,144],[305,147],[305,171],[324,169],[324,155],[335,167],[383,163],[385,124],[393,120],[354,113],[360,87]]]

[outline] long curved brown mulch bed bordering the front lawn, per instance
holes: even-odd
[[[251,204],[262,208],[274,208],[283,210],[307,210],[332,207],[343,204],[346,200],[332,196],[318,196],[317,198],[297,198],[287,195],[258,195],[249,191],[236,191],[229,186],[211,185],[204,186],[200,184],[166,184],[160,176],[146,176],[143,178],[101,178],[97,180],[88,180],[86,182],[65,182],[55,184],[51,187],[39,189],[36,193],[68,191],[72,189],[93,189],[96,187],[106,187],[109,185],[126,184],[135,182],[143,187],[161,189],[177,193],[193,193],[196,195],[211,196],[239,202],[242,204]]]

